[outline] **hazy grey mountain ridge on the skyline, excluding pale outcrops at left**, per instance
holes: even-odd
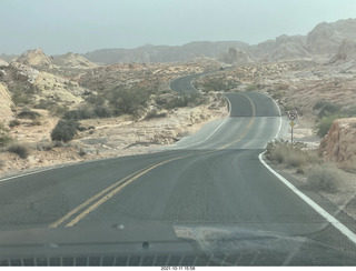
[[[241,41],[195,41],[184,46],[144,46],[135,49],[99,49],[83,56],[99,63],[189,61],[199,56],[224,59],[230,48],[251,61],[276,61],[334,56],[345,39],[356,40],[356,19],[317,24],[307,36],[279,36],[256,46]],[[246,57],[245,57],[246,56]]]

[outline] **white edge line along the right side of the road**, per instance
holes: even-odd
[[[266,96],[266,94],[265,94]],[[268,96],[267,96],[268,97]],[[279,121],[279,128],[277,131],[277,134],[275,137],[275,139],[278,137],[280,128],[281,128],[281,113],[280,113],[280,109],[277,104],[277,102],[270,98],[278,111],[279,111],[279,117],[280,117],[280,121]],[[268,169],[275,177],[277,177],[285,185],[287,185],[293,192],[295,192],[301,200],[304,200],[307,204],[309,204],[317,213],[319,213],[323,218],[325,218],[330,224],[333,224],[339,232],[342,232],[345,237],[347,237],[352,242],[354,242],[356,244],[356,234],[350,231],[346,225],[344,225],[340,221],[338,221],[336,218],[334,218],[332,214],[329,214],[327,211],[325,211],[320,205],[318,205],[315,201],[313,201],[309,197],[307,197],[306,194],[304,194],[300,190],[298,190],[295,185],[293,185],[286,178],[284,178],[283,175],[280,175],[279,173],[277,173],[276,171],[274,171],[263,159],[263,154],[266,151],[259,153],[258,159],[261,162],[263,165],[265,165],[266,169]]]

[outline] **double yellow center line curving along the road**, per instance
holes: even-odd
[[[243,96],[245,96],[245,94],[243,94]],[[180,160],[180,159],[194,157],[194,155],[202,155],[202,154],[220,151],[220,150],[227,149],[228,147],[230,147],[230,145],[237,143],[238,141],[240,141],[246,136],[246,133],[249,130],[249,128],[251,127],[251,124],[253,124],[253,122],[255,120],[255,116],[256,116],[256,108],[255,108],[255,104],[254,104],[253,100],[247,96],[245,96],[245,97],[250,102],[250,106],[251,106],[251,109],[253,109],[253,118],[249,121],[249,123],[247,124],[247,127],[245,128],[245,131],[235,141],[230,142],[230,143],[227,143],[227,144],[222,145],[221,148],[219,148],[217,150],[206,151],[206,152],[200,152],[200,153],[195,153],[195,154],[189,154],[189,155],[176,157],[176,158],[171,158],[171,159],[165,160],[165,161],[159,162],[159,163],[150,164],[150,165],[148,165],[146,168],[142,168],[140,170],[137,170],[134,173],[127,175],[126,178],[123,178],[123,179],[117,181],[116,183],[109,185],[108,188],[106,188],[105,190],[100,191],[99,193],[95,194],[90,199],[86,200],[83,203],[81,203],[80,205],[76,207],[73,210],[71,210],[70,212],[65,214],[62,218],[58,219],[57,221],[55,221],[53,223],[48,225],[48,228],[57,228],[59,225],[73,227],[82,218],[88,215],[90,212],[95,211],[98,207],[100,207],[102,203],[105,203],[106,201],[111,199],[115,194],[120,192],[128,184],[130,184],[131,182],[134,182],[138,178],[142,177],[147,172],[149,172],[149,171],[151,171],[151,170],[154,170],[154,169],[156,169],[156,168],[158,168],[158,167],[160,167],[162,164],[166,164],[166,163],[169,163],[169,162],[172,162],[172,161],[177,161],[177,160]]]

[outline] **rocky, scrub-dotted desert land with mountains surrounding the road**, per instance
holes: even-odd
[[[286,113],[297,111],[295,141],[345,173],[346,190],[320,193],[346,210],[356,193],[355,29],[349,19],[258,46],[194,42],[180,51],[148,46],[127,54],[47,56],[40,48],[1,54],[0,177],[157,151],[227,118],[224,93],[259,91],[281,109],[281,139],[290,139]],[[195,79],[199,94],[169,88],[178,77],[205,71],[214,72]],[[276,167],[307,180],[305,169]]]

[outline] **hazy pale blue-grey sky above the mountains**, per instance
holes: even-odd
[[[347,18],[356,18],[355,0],[0,0],[0,53],[205,40],[256,44]]]

